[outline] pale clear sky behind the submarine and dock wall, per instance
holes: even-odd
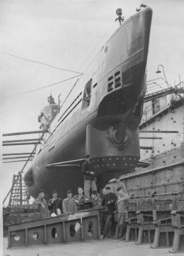
[[[142,2],[153,9],[147,79],[163,76],[155,73],[162,64],[168,82],[174,85],[174,80],[179,82],[179,75],[184,80],[182,0],[0,0],[0,144],[2,140],[20,139],[2,138],[2,133],[39,130],[37,119],[47,97],[52,93],[57,102],[61,93],[62,102],[77,79],[58,83],[78,73],[23,59],[84,73],[118,28],[116,9],[122,8],[126,20]],[[58,84],[48,86],[54,83]],[[21,139],[37,137],[27,135]],[[0,148],[1,199],[11,188],[13,174],[18,174],[25,163],[2,164],[2,153],[32,149],[33,146]]]

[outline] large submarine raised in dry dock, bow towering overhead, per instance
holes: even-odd
[[[120,10],[120,9],[118,9]],[[83,186],[85,154],[93,162],[99,190],[117,174],[141,164],[139,124],[146,93],[152,9],[142,6],[124,21],[75,83],[64,102],[52,95],[38,117],[43,133],[24,175],[28,193],[48,197]]]

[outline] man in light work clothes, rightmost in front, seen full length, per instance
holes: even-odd
[[[125,212],[128,210],[127,199],[129,199],[129,195],[124,193],[122,186],[117,187],[118,199],[117,199],[117,207],[118,207],[118,224],[119,224],[119,238],[120,240],[125,240],[126,234],[126,222],[125,222]]]

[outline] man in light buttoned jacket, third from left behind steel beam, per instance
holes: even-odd
[[[62,202],[62,211],[63,213],[72,213],[77,212],[77,205],[75,199],[72,197],[72,191],[67,191],[67,198]]]

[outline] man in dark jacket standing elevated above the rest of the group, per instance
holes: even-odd
[[[95,172],[92,162],[90,162],[90,155],[85,155],[86,161],[82,164],[82,173],[84,174],[84,196],[90,199],[90,187],[92,190],[97,190],[95,183]]]

